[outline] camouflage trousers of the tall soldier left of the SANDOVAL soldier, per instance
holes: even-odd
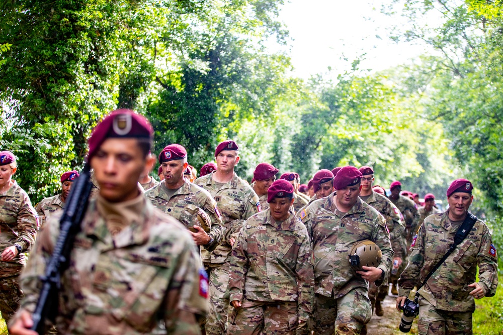
[[[209,278],[210,304],[206,316],[206,335],[225,334],[229,305],[229,263],[205,263]]]

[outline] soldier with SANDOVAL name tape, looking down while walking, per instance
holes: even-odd
[[[291,209],[293,186],[276,180],[267,193],[270,207],[246,220],[232,248],[229,300],[235,309],[229,335],[308,332],[314,296],[311,243]]]

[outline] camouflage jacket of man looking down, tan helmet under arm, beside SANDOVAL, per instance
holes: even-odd
[[[357,199],[355,205],[342,217],[336,214],[333,202],[335,192],[314,201],[299,213],[311,238],[314,256],[314,290],[324,296],[340,298],[355,287],[368,288],[368,282],[351,268],[349,252],[353,244],[373,241],[381,249],[378,268],[384,278],[393,258],[389,233],[384,217],[374,208]],[[377,286],[382,280],[375,282]]]

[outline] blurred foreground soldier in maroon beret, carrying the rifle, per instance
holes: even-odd
[[[75,237],[61,278],[56,325],[63,334],[199,334],[207,283],[196,246],[174,218],[154,208],[138,184],[153,130],[131,110],[119,109],[94,129],[88,162],[100,185]],[[10,333],[29,330],[46,259],[59,234],[59,215],[40,232],[22,274],[25,298]]]

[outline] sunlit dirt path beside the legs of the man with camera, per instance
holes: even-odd
[[[388,295],[383,301],[384,315],[377,316],[375,313],[367,324],[367,335],[398,335],[403,334],[398,329],[402,313],[395,308],[396,296]],[[417,317],[408,334],[417,334]]]

